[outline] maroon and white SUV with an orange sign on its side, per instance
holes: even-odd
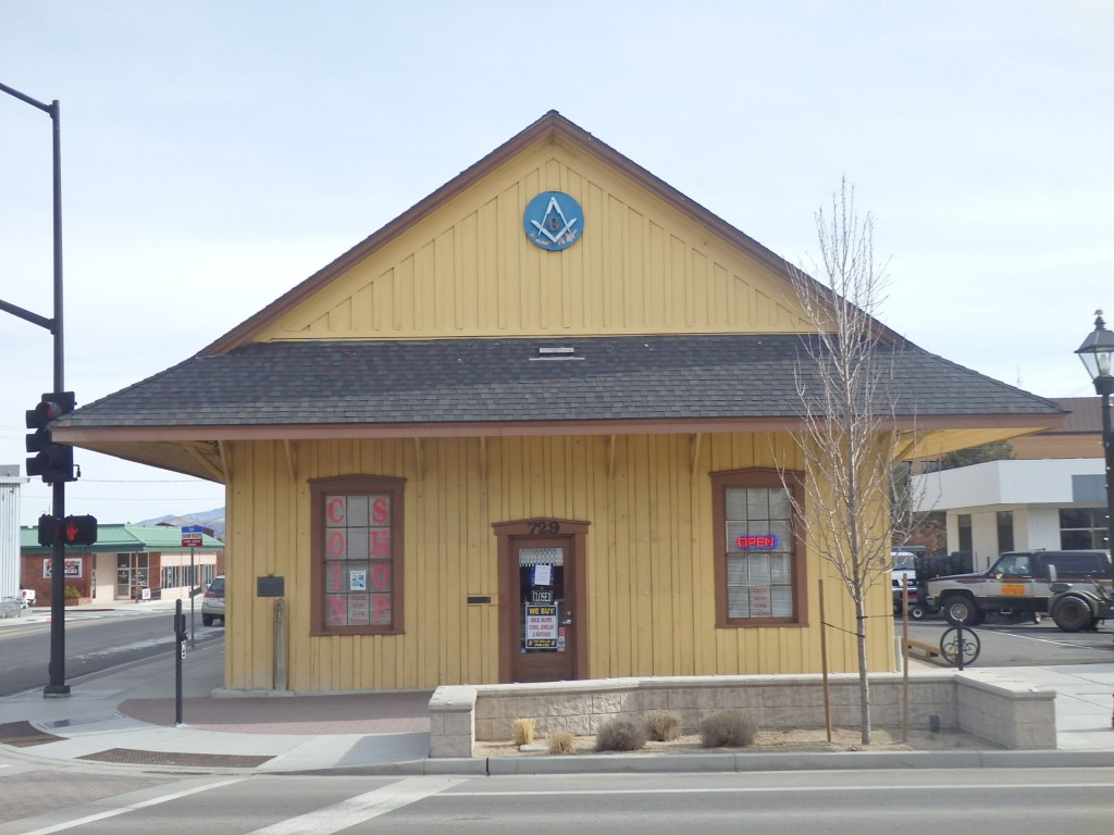
[[[925,603],[964,626],[978,626],[991,612],[1047,612],[1056,582],[1094,582],[1110,587],[1114,568],[1106,551],[1009,551],[983,573],[929,580]]]

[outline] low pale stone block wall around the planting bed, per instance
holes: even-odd
[[[830,676],[832,725],[859,726],[858,676]],[[903,677],[871,676],[874,727],[900,728]],[[1003,748],[1055,748],[1055,692],[956,672],[909,679],[909,727],[961,729]],[[566,730],[594,735],[614,718],[638,720],[651,710],[681,715],[695,733],[711,714],[735,708],[760,728],[824,727],[820,676],[712,676],[597,679],[525,685],[440,687],[430,700],[431,756],[470,757],[475,740],[510,739],[515,719],[532,718],[539,736]]]

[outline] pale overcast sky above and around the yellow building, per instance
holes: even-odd
[[[0,82],[61,102],[66,384],[193,355],[550,109],[799,264],[840,179],[880,317],[1047,397],[1114,315],[1114,3],[0,0]],[[50,118],[0,94],[0,298],[51,314]],[[0,464],[51,389],[0,313]],[[78,451],[67,510],[223,489]],[[49,512],[38,479],[25,524]]]

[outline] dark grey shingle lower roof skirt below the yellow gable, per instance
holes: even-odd
[[[276,426],[792,418],[800,335],[299,341],[194,356],[63,425]],[[544,360],[540,348],[573,348]],[[1058,415],[910,343],[880,344],[900,415]],[[889,399],[891,395],[887,394]]]

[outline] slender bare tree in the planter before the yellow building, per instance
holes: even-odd
[[[876,264],[873,219],[854,210],[846,179],[831,208],[817,213],[821,262],[791,269],[813,333],[802,340],[794,377],[805,472],[799,509],[808,548],[825,560],[854,609],[862,743],[870,743],[867,599],[889,586],[895,525],[911,521],[913,497],[901,459],[909,436],[897,430],[892,394],[895,336],[874,313],[885,301],[886,266]]]

